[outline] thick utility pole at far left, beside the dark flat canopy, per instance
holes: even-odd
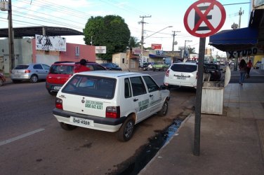
[[[13,22],[12,22],[12,2],[8,1],[8,47],[9,47],[9,71],[14,67],[14,36],[13,36]]]

